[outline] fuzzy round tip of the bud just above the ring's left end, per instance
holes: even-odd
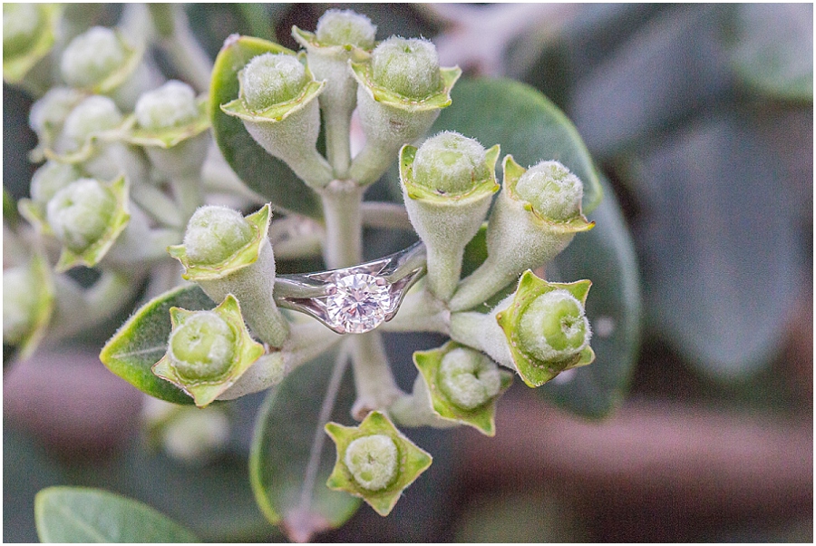
[[[251,224],[237,210],[209,205],[192,215],[184,234],[191,263],[213,265],[226,261],[255,237]]]

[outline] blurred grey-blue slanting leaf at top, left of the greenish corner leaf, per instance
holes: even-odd
[[[666,10],[576,83],[570,116],[597,158],[626,150],[730,89],[723,14],[719,5]]]

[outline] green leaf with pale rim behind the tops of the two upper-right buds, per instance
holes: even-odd
[[[564,112],[543,94],[507,79],[465,79],[453,88],[452,99],[431,134],[457,131],[484,146],[500,144],[503,154],[523,166],[560,161],[584,182],[584,213],[597,207],[602,191],[587,147]]]

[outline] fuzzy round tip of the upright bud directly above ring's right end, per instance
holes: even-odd
[[[416,151],[413,179],[441,194],[462,193],[490,175],[484,162],[485,149],[478,141],[458,132],[441,132]]]

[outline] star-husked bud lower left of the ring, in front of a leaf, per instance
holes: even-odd
[[[264,347],[249,336],[231,294],[211,311],[171,307],[170,321],[167,354],[152,372],[192,396],[199,407],[234,385],[264,354]]]

